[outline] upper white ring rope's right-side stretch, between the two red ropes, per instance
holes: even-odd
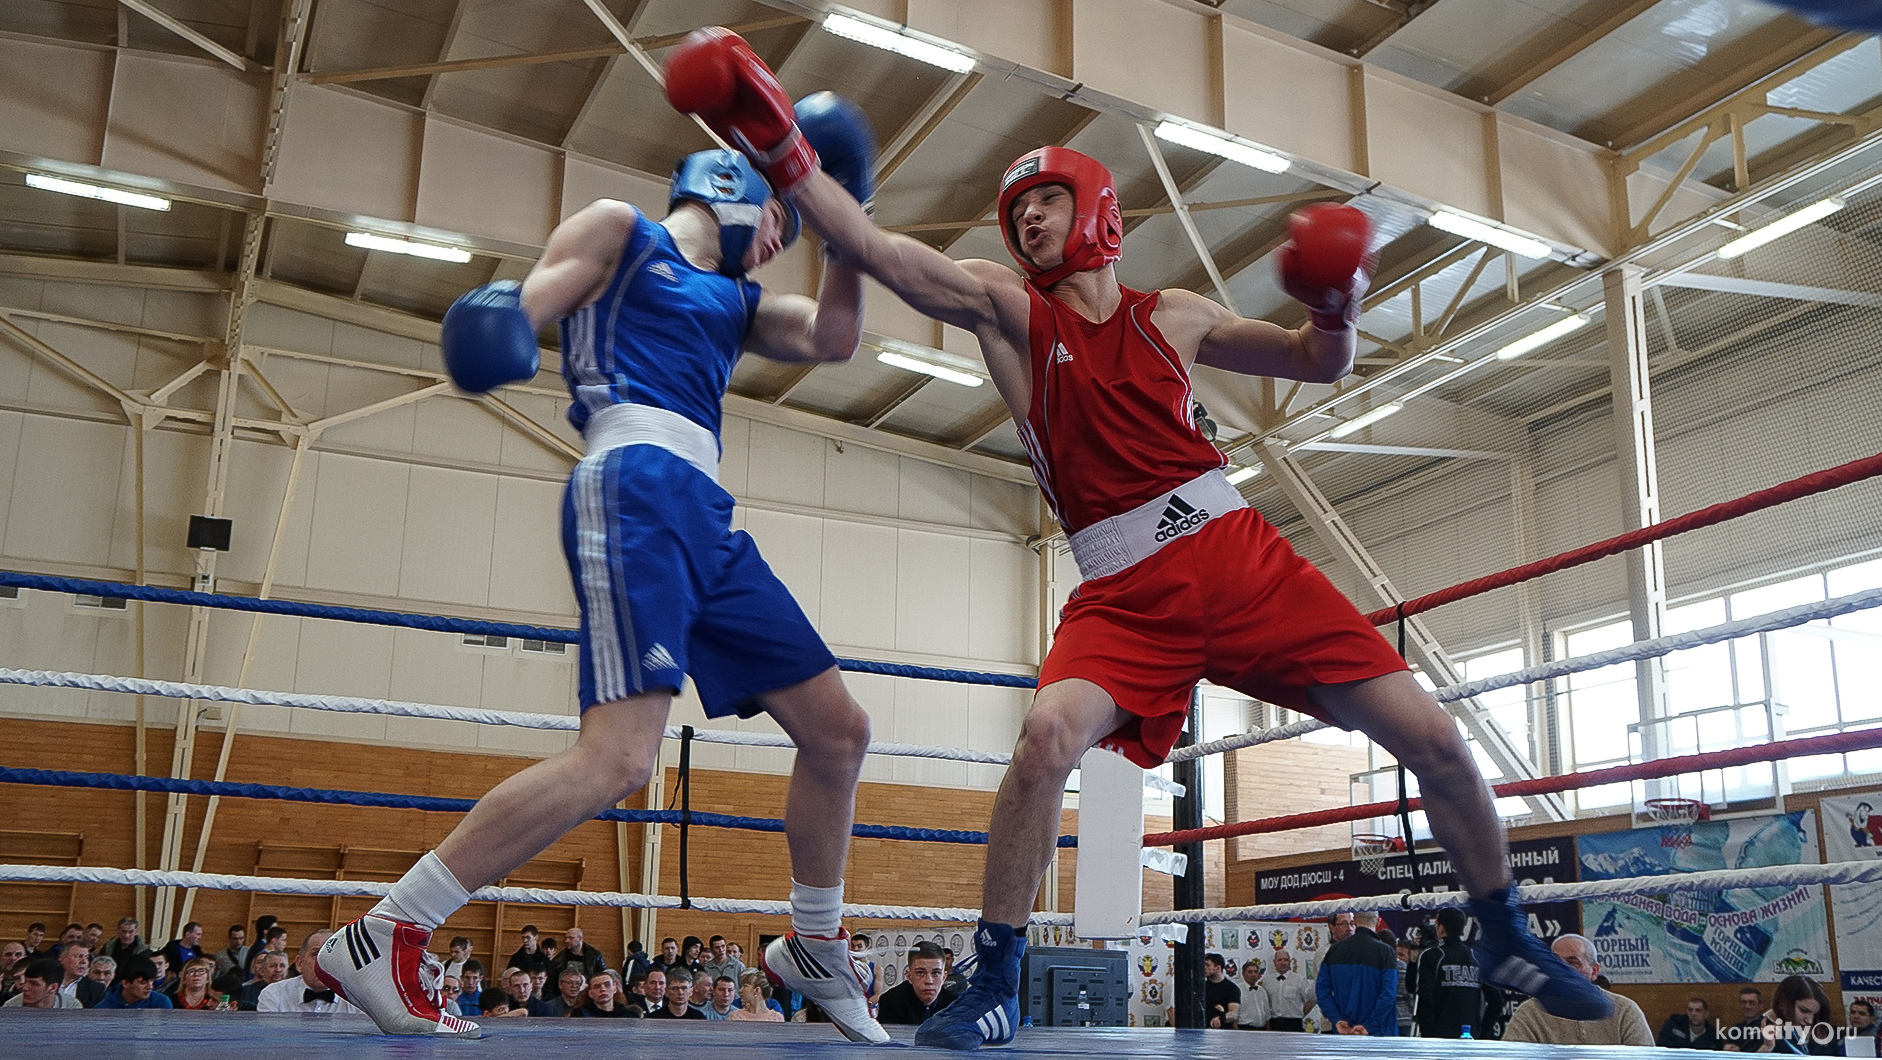
[[[1602,667],[1613,667],[1615,663],[1635,663],[1639,659],[1656,659],[1660,655],[1671,655],[1673,651],[1684,651],[1688,648],[1703,648],[1707,644],[1718,644],[1720,640],[1735,640],[1739,636],[1746,636],[1752,633],[1773,633],[1777,629],[1790,629],[1794,625],[1803,625],[1807,621],[1837,618],[1842,614],[1859,612],[1873,606],[1882,606],[1882,589],[1863,589],[1861,593],[1833,597],[1827,601],[1818,601],[1814,604],[1797,604],[1794,608],[1784,608],[1769,614],[1756,614],[1752,618],[1724,621],[1718,625],[1709,625],[1705,629],[1673,633],[1667,636],[1656,636],[1652,640],[1635,640],[1634,644],[1622,644],[1620,648],[1609,648],[1607,651],[1592,651],[1588,655],[1575,655],[1573,659],[1556,659],[1555,663],[1541,663],[1539,667],[1511,670],[1507,674],[1498,674],[1494,678],[1445,685],[1434,691],[1432,695],[1438,697],[1438,702],[1457,702],[1460,699],[1477,697],[1496,689],[1507,689],[1511,685],[1526,685],[1532,682],[1545,682],[1549,678],[1560,678],[1566,674],[1600,670]],[[1171,751],[1169,761],[1184,763],[1189,759],[1201,759],[1203,755],[1220,755],[1221,751],[1255,747],[1259,744],[1272,744],[1276,740],[1293,740],[1295,736],[1304,736],[1306,732],[1317,732],[1321,729],[1331,729],[1331,727],[1325,721],[1314,721],[1312,717],[1306,717],[1289,725],[1282,725],[1280,729],[1263,729],[1259,732],[1244,732],[1240,736],[1210,740],[1208,744],[1195,744],[1191,747],[1176,747],[1174,751]]]

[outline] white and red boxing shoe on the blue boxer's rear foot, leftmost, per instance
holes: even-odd
[[[431,932],[367,913],[333,932],[314,964],[320,981],[373,1017],[386,1034],[448,1034],[482,1037],[467,1019],[439,1004],[444,964],[425,951]]]

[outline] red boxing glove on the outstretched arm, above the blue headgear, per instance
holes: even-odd
[[[790,96],[745,38],[723,26],[693,30],[666,56],[666,102],[698,115],[783,194],[817,169]]]

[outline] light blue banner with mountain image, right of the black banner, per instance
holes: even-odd
[[[1820,864],[1816,815],[1739,817],[1581,836],[1581,879]],[[1829,981],[1822,887],[1649,891],[1581,904],[1602,972],[1615,983]]]

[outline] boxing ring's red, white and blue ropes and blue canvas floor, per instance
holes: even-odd
[[[1882,476],[1882,456],[1850,461],[1833,469],[1826,469],[1814,474],[1807,474],[1803,478],[1773,486],[1769,490],[1762,490],[1758,493],[1739,497],[1735,501],[1715,505],[1711,508],[1701,508],[1698,512],[1681,516],[1677,520],[1656,523],[1643,531],[1619,535],[1615,538],[1607,538],[1571,552],[1564,552],[1549,559],[1526,563],[1523,567],[1475,578],[1472,582],[1464,582],[1460,586],[1453,586],[1449,589],[1374,612],[1368,618],[1376,625],[1404,621],[1410,616],[1423,614],[1436,606],[1468,599],[1472,595],[1487,593],[1496,587],[1513,586],[1530,578],[1538,578],[1541,574],[1566,570],[1583,563],[1590,563],[1594,559],[1639,548],[1654,540],[1664,540],[1681,533],[1688,533],[1692,529],[1716,525],[1726,520],[1741,518],[1750,512],[1784,505],[1801,497],[1820,495],[1842,486],[1873,480],[1876,476]],[[122,599],[171,602],[186,606],[231,608],[231,610],[258,612],[258,614],[284,614],[299,618],[359,621],[373,625],[429,629],[429,631],[459,633],[459,634],[523,636],[523,638],[538,638],[561,644],[576,642],[576,633],[568,629],[486,623],[472,619],[448,619],[435,616],[416,616],[416,614],[363,610],[363,608],[337,608],[337,606],[305,604],[290,601],[231,597],[218,593],[194,593],[179,589],[120,586],[111,582],[47,578],[47,576],[17,574],[17,572],[0,572],[0,586],[17,586],[24,589],[43,589],[56,593],[122,597]],[[1440,687],[1436,689],[1436,697],[1442,702],[1455,702],[1494,689],[1526,685],[1534,682],[1547,682],[1568,674],[1598,670],[1617,663],[1666,657],[1683,650],[1718,644],[1724,640],[1733,640],[1756,633],[1790,629],[1803,623],[1829,619],[1876,606],[1882,606],[1882,587],[1865,589],[1809,604],[1799,604],[1784,610],[1775,610],[1769,614],[1741,618],[1711,625],[1705,629],[1694,629],[1688,633],[1660,636],[1654,640],[1641,640],[1607,651],[1549,661],[1536,667],[1513,670],[1507,674],[1498,674],[1492,678]],[[841,659],[839,667],[849,672],[886,674],[907,680],[958,682],[958,683],[1001,685],[1001,687],[1031,687],[1033,683],[1029,678],[1020,678],[1011,674],[945,670],[945,668],[892,665],[892,663],[875,663],[858,659]],[[113,691],[126,695],[158,695],[169,699],[209,700],[209,702],[273,704],[294,710],[384,714],[384,715],[423,717],[440,721],[467,721],[476,725],[550,729],[550,731],[574,731],[580,725],[580,719],[576,715],[480,710],[480,708],[461,708],[446,704],[420,704],[420,702],[376,700],[376,699],[333,697],[333,695],[279,693],[262,689],[226,687],[226,685],[122,678],[111,674],[0,668],[0,683],[96,689],[96,691]],[[1325,725],[1319,721],[1299,721],[1291,725],[1231,736],[1225,740],[1184,746],[1171,755],[1171,761],[1193,763],[1206,755],[1218,755],[1238,747],[1253,747],[1282,740],[1297,740],[1323,727]],[[672,740],[679,740],[681,747],[689,747],[694,742],[743,744],[743,746],[764,746],[764,747],[790,746],[790,742],[781,734],[694,729],[691,725],[668,727],[666,736]],[[1743,766],[1748,763],[1777,763],[1803,755],[1846,753],[1871,747],[1882,747],[1882,727],[1854,729],[1854,731],[1833,732],[1827,736],[1810,736],[1797,740],[1771,740],[1720,751],[1703,751],[1692,755],[1637,761],[1602,770],[1568,772],[1556,776],[1517,779],[1509,783],[1498,783],[1494,785],[1494,791],[1500,796],[1534,796],[1545,793],[1587,789],[1596,785],[1613,785],[1620,781],[1675,778],[1683,774],[1694,774],[1699,770]],[[947,759],[947,761],[964,761],[979,764],[1005,764],[1011,759],[1011,755],[997,751],[933,747],[918,744],[888,744],[888,742],[871,744],[869,753]],[[685,753],[681,753],[681,761],[685,761]],[[1169,781],[1154,778],[1152,774],[1146,776],[1150,778],[1152,785],[1161,785],[1163,789],[1174,789],[1174,793],[1180,796],[1184,795],[1180,785],[1171,785]],[[292,800],[292,802],[382,806],[382,808],[422,810],[439,813],[463,813],[472,806],[472,800],[469,798],[437,798],[437,796],[401,795],[401,793],[311,789],[311,787],[290,787],[290,785],[230,783],[230,781],[211,781],[211,779],[171,779],[154,776],[94,774],[94,772],[40,770],[40,768],[0,768],[0,783],[94,787],[94,789],[120,789],[120,791],[162,791],[162,793],[181,793],[181,795],[207,795],[218,798],[273,798],[273,800]],[[1344,821],[1364,821],[1372,817],[1387,817],[1395,811],[1402,813],[1406,810],[1417,810],[1417,806],[1419,806],[1417,798],[1410,798],[1398,802],[1374,802],[1374,804],[1344,806],[1336,810],[1321,810],[1312,813],[1291,813],[1257,821],[1240,821],[1210,828],[1172,830],[1172,832],[1142,836],[1142,847],[1144,851],[1152,847],[1188,847],[1189,851],[1199,853],[1201,851],[1199,843],[1210,840],[1268,834],[1268,832],[1282,832],[1291,828],[1344,823]],[[610,810],[600,813],[597,819],[644,823],[644,825],[676,825],[681,828],[681,836],[685,834],[685,828],[693,827],[742,828],[742,830],[760,830],[760,832],[783,830],[783,821],[777,819],[742,817],[728,813],[704,813],[704,811],[693,811],[685,806],[681,806],[679,810]],[[858,823],[854,827],[854,836],[890,838],[905,842],[935,842],[935,843],[986,842],[984,832],[973,832],[973,830],[909,828],[909,827],[868,825],[868,823]],[[1078,838],[1060,836],[1058,845],[1077,847]],[[1197,857],[1197,853],[1189,855],[1191,860]],[[160,872],[160,870],[132,870],[132,868],[109,868],[109,866],[43,866],[43,864],[41,866],[0,864],[0,881],[143,885],[143,887],[183,887],[183,889],[220,889],[220,891],[262,891],[271,894],[327,894],[327,896],[380,896],[390,889],[390,883],[346,881],[346,879],[341,881],[292,879],[292,877],[203,874],[203,872]],[[1519,896],[1524,904],[1534,904],[1534,902],[1566,902],[1566,900],[1590,900],[1590,898],[1620,898],[1630,894],[1645,894],[1649,891],[1666,892],[1666,891],[1713,891],[1713,889],[1739,889],[1739,887],[1810,887],[1827,883],[1876,883],[1876,881],[1882,881],[1882,862],[1874,860],[1827,862],[1827,864],[1777,864],[1767,868],[1690,872],[1671,877],[1647,875],[1647,877],[1596,879],[1579,883],[1528,885],[1519,891]],[[534,904],[589,906],[589,907],[700,909],[715,913],[764,913],[764,915],[789,913],[789,904],[777,900],[691,894],[687,887],[683,855],[681,855],[679,889],[681,894],[632,894],[632,892],[612,892],[612,891],[550,891],[550,889],[529,889],[529,887],[486,887],[476,891],[472,894],[472,900],[501,900],[501,902],[525,902],[525,904],[534,902]],[[1374,898],[1342,898],[1327,902],[1265,904],[1265,906],[1240,906],[1240,907],[1180,907],[1172,911],[1144,913],[1140,915],[1139,924],[1142,926],[1208,924],[1223,921],[1276,921],[1276,919],[1325,917],[1340,909],[1359,909],[1359,907],[1376,909],[1381,906],[1381,902],[1396,904],[1404,909],[1438,909],[1443,906],[1464,904],[1464,894],[1443,892],[1443,891],[1436,892],[1406,891],[1400,892],[1396,898],[1374,896]],[[847,904],[843,907],[843,915],[868,917],[868,919],[896,919],[896,921],[973,923],[977,919],[977,909]],[[1056,913],[1056,911],[1035,913],[1031,923],[1069,926],[1075,924],[1075,913]],[[414,1056],[414,1054],[431,1054],[433,1051],[459,1051],[459,1049],[478,1049],[482,1051],[480,1054],[486,1056],[499,1056],[499,1054],[540,1056],[544,1054],[544,1051],[591,1049],[593,1045],[597,1045],[597,1037],[627,1034],[632,1036],[634,1043],[646,1043],[681,1054],[689,1052],[691,1049],[736,1047],[736,1049],[755,1051],[753,1052],[755,1056],[768,1058],[785,1054],[802,1056],[807,1051],[819,1051],[819,1049],[853,1049],[851,1045],[843,1043],[839,1036],[834,1034],[832,1028],[815,1024],[811,1026],[719,1024],[717,1028],[689,1026],[687,1030],[670,1030],[659,1024],[646,1024],[638,1020],[629,1028],[593,1026],[587,1022],[563,1022],[555,1024],[553,1028],[544,1028],[540,1020],[533,1020],[531,1024],[510,1024],[508,1020],[486,1020],[484,1026],[487,1037],[478,1045],[467,1047],[459,1041],[416,1041],[416,1039],[380,1037],[376,1034],[371,1034],[373,1028],[365,1019],[337,1019],[337,1017],[256,1019],[250,1013],[237,1013],[237,1015],[228,1015],[224,1019],[203,1020],[184,1013],[87,1011],[87,1013],[72,1013],[70,1019],[62,1019],[58,1022],[58,1030],[53,1032],[53,1028],[47,1024],[30,1022],[28,1013],[4,1011],[0,1013],[0,1047],[6,1047],[6,1043],[11,1041],[15,1043],[13,1049],[21,1051],[21,1054],[24,1049],[43,1051],[51,1036],[56,1034],[56,1041],[60,1045],[66,1045],[72,1052],[111,1049],[113,1052],[128,1052],[130,1056],[145,1056],[145,1054],[156,1056],[162,1052],[166,1058],[175,1054],[177,1049],[183,1049],[186,1054],[192,1056],[237,1056],[237,1054],[250,1056],[256,1049],[279,1049],[286,1041],[292,1041],[295,1049],[320,1049],[337,1056],[361,1056],[361,1058],[391,1056],[391,1054]],[[898,1036],[898,1039],[907,1039],[913,1036],[913,1028],[896,1028],[894,1034]],[[1180,1041],[1172,1039],[1171,1036],[1180,1036]],[[1139,1054],[1169,1056],[1174,1049],[1180,1049],[1184,1052],[1195,1054],[1204,1060],[1216,1060],[1216,1058],[1227,1060],[1231,1052],[1240,1056],[1246,1054],[1252,1047],[1257,1051],[1284,1049],[1285,1052],[1295,1056],[1340,1058],[1340,1056],[1361,1056],[1378,1051],[1389,1051],[1393,1054],[1402,1054],[1402,1056],[1423,1054],[1423,1052],[1432,1052],[1436,1043],[1408,1041],[1408,1039],[1340,1037],[1340,1036],[1304,1036],[1304,1037],[1289,1036],[1289,1037],[1248,1039],[1236,1036],[1221,1036],[1221,1034],[1210,1036],[1195,1030],[1169,1030],[1169,1028],[1029,1028],[1020,1032],[1016,1043],[1009,1049],[1009,1052],[1039,1054],[1039,1056],[1061,1054],[1061,1052],[1080,1052],[1080,1054],[1097,1052],[1108,1056],[1139,1056]],[[1549,1049],[1549,1047],[1524,1047],[1524,1045],[1481,1041],[1475,1043],[1472,1049],[1483,1049],[1491,1052],[1498,1051],[1528,1052],[1534,1056],[1538,1049]],[[1602,1052],[1602,1051],[1592,1051],[1592,1052]],[[1577,1054],[1590,1054],[1590,1051],[1577,1049]]]

